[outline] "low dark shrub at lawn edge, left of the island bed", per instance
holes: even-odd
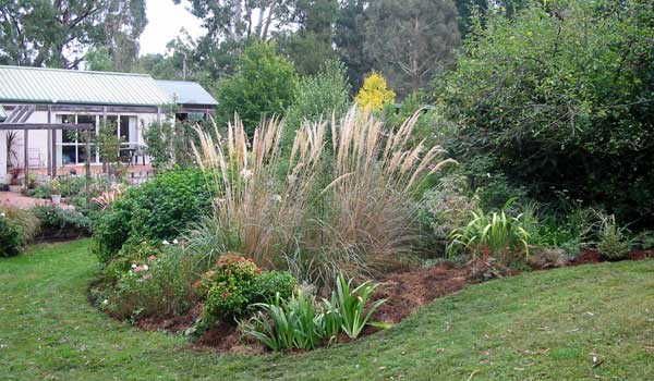
[[[62,233],[86,235],[90,233],[90,220],[75,210],[44,205],[34,207],[32,211],[40,220],[44,235]]]

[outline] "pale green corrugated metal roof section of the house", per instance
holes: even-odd
[[[1,65],[0,101],[107,106],[173,102],[146,74]]]

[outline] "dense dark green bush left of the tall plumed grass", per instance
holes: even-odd
[[[211,209],[211,194],[198,170],[165,172],[130,189],[94,225],[94,251],[108,262],[131,239],[172,239]]]

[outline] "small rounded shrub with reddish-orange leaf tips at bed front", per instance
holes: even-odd
[[[226,322],[244,316],[256,303],[271,299],[276,294],[289,297],[295,288],[290,274],[263,272],[251,259],[226,254],[215,270],[206,272],[198,290],[206,293],[205,316]]]

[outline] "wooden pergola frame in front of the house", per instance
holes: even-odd
[[[86,160],[84,163],[84,171],[86,174],[86,197],[89,198],[88,187],[90,184],[90,131],[95,131],[95,125],[90,123],[82,124],[63,124],[63,123],[49,123],[51,122],[51,110],[48,112],[48,123],[25,123],[25,121],[32,115],[35,106],[24,107],[12,112],[4,123],[0,123],[0,131],[23,131],[23,148],[24,148],[24,165],[25,165],[25,193],[29,187],[29,157],[28,157],[28,145],[29,145],[29,131],[35,130],[47,130],[52,132],[55,136],[56,131],[85,131],[86,132]],[[57,177],[57,139],[52,138],[52,152],[50,158],[49,171],[51,179]]]

